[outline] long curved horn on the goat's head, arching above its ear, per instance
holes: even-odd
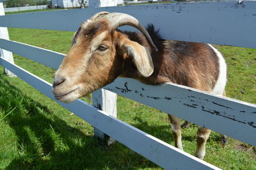
[[[148,34],[147,29],[145,29],[145,27],[131,15],[127,15],[125,13],[109,13],[108,15],[104,15],[103,18],[109,20],[109,23],[111,24],[111,27],[113,29],[116,29],[120,26],[125,26],[125,25],[136,27],[147,38],[148,43],[154,48],[154,50],[157,51],[157,47],[152,41],[152,39],[150,38],[150,35]]]

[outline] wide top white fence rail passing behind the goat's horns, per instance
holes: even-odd
[[[0,26],[77,31],[97,12],[123,12],[154,24],[165,39],[256,48],[255,9],[256,1],[141,4],[6,15]]]

